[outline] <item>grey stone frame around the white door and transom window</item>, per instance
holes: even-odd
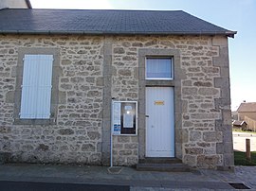
[[[172,57],[174,79],[147,80],[145,78],[145,61],[148,57]],[[178,49],[141,48],[138,50],[138,159],[146,157],[146,87],[174,87],[174,157],[182,159],[182,100],[180,52]]]

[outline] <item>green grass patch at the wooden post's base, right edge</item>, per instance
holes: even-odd
[[[256,165],[256,151],[251,152],[251,161],[247,161],[246,152],[235,150],[234,165]]]

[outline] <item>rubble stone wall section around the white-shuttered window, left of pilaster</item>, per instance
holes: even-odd
[[[60,49],[56,125],[14,125],[19,47]],[[101,164],[102,37],[0,37],[0,153],[12,162]],[[56,93],[58,94],[58,93]]]

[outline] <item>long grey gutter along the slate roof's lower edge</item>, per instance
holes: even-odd
[[[86,30],[0,30],[0,34],[41,34],[41,35],[225,35],[227,37],[234,38],[236,31],[226,31],[226,32],[122,32],[122,31],[86,31]]]

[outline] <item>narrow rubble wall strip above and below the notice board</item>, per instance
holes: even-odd
[[[114,38],[112,57],[112,96],[120,101],[138,100],[137,47],[134,38]],[[114,136],[114,165],[136,165],[138,161],[137,135]]]

